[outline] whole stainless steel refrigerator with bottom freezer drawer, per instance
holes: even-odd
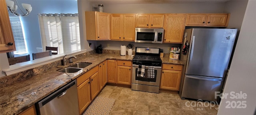
[[[215,91],[222,90],[237,29],[192,28],[185,30],[186,55],[180,97],[218,101]],[[241,54],[242,55],[242,54]]]

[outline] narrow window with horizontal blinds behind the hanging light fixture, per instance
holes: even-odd
[[[19,16],[9,16],[11,27],[12,27],[12,34],[14,37],[16,51],[14,54],[26,54],[28,53],[26,40],[23,35],[23,26],[22,21],[20,20]]]

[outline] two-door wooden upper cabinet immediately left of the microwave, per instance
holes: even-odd
[[[136,14],[111,14],[111,40],[134,41]]]

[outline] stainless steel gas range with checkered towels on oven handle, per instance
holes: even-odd
[[[161,71],[160,48],[136,47],[132,59],[132,90],[159,93]]]

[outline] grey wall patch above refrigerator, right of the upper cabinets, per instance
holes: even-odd
[[[227,28],[238,28],[240,30],[244,19],[248,0],[230,0],[225,3],[224,13],[230,13]]]

